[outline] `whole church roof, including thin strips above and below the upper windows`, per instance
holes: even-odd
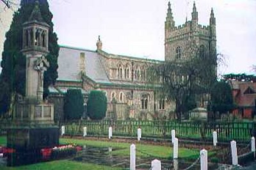
[[[80,53],[84,53],[85,71],[89,80],[99,83],[99,85],[118,85],[120,87],[149,87],[142,82],[129,82],[109,80],[104,65],[100,57],[108,55],[113,58],[120,57],[122,59],[142,60],[143,62],[159,63],[161,60],[141,59],[137,57],[129,57],[125,55],[113,55],[102,51],[97,53],[93,50],[86,50],[83,48],[76,48],[71,46],[60,46],[60,52],[58,57],[58,81],[82,81],[80,73]],[[156,86],[156,85],[154,85]]]

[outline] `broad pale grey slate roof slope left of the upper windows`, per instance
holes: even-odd
[[[57,80],[82,81],[80,74],[81,52],[84,52],[85,55],[86,76],[97,83],[111,83],[97,52],[69,46],[60,46]]]

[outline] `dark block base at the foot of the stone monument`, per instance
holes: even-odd
[[[59,128],[56,126],[10,127],[7,131],[7,147],[15,150],[8,155],[7,166],[39,162],[42,148],[59,145]]]

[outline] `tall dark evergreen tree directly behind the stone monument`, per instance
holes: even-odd
[[[22,50],[22,24],[29,20],[36,0],[22,0],[20,8],[13,15],[10,30],[6,32],[4,51],[2,53],[2,73],[0,76],[0,113],[10,109],[15,94],[25,96],[26,89],[26,57],[20,52]],[[50,25],[49,29],[49,54],[46,59],[50,67],[44,74],[44,97],[48,96],[48,87],[54,84],[58,78],[58,53],[59,46],[57,36],[53,32],[52,13],[49,10],[47,0],[40,0],[39,8],[44,22]]]

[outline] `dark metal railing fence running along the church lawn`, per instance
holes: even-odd
[[[113,136],[136,137],[138,127],[143,137],[170,138],[172,129],[180,139],[212,140],[212,132],[218,132],[218,141],[248,141],[255,133],[253,122],[175,122],[175,121],[136,121],[102,120],[65,122],[65,134],[83,135],[83,127],[92,136],[108,136],[108,127],[113,128]]]

